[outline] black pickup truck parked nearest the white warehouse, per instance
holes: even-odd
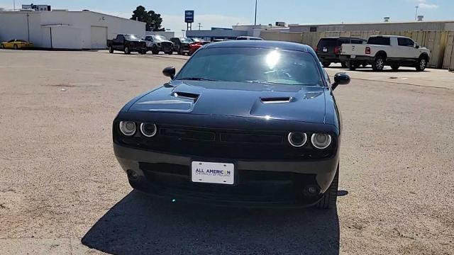
[[[125,52],[125,54],[131,52],[147,53],[146,42],[140,40],[137,35],[116,35],[114,40],[107,40],[107,47],[109,47],[111,53],[114,53],[114,50]]]

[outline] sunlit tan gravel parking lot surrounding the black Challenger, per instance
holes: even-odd
[[[111,145],[186,58],[0,50],[0,254],[454,254],[453,73],[349,72],[337,210],[213,208],[132,191]]]

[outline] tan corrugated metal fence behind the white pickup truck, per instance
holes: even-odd
[[[328,36],[346,36],[369,38],[370,35],[403,35],[412,38],[419,45],[431,50],[428,67],[454,69],[454,32],[448,31],[351,31],[351,32],[282,32],[264,30],[260,34],[265,40],[299,42],[315,48],[320,38]]]

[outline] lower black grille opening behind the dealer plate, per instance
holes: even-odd
[[[170,194],[240,201],[302,200],[303,188],[316,183],[311,174],[271,171],[236,171],[234,186],[193,183],[189,166],[140,163],[147,181]]]

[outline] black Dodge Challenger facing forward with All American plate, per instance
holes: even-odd
[[[341,116],[311,47],[201,47],[170,81],[124,106],[114,152],[131,186],[215,205],[336,205]]]

